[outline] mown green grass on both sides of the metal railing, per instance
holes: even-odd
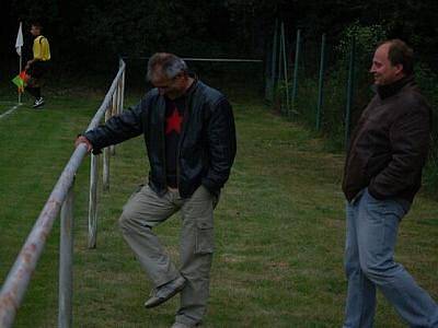
[[[129,96],[134,104],[139,95]],[[216,210],[217,251],[205,327],[341,327],[343,155],[285,121],[254,96],[230,96],[238,156]],[[103,94],[54,94],[44,110],[24,105],[0,120],[0,284]],[[0,112],[1,114],[1,112]],[[87,249],[89,159],[76,181],[74,327],[170,327],[177,297],[146,311],[150,284],[117,227],[148,166],[141,138],[116,149],[111,190],[101,194],[97,248]],[[417,197],[401,225],[396,259],[438,300],[438,203]],[[157,232],[177,258],[180,218]],[[57,323],[58,226],[15,327]],[[376,327],[404,327],[379,294]]]

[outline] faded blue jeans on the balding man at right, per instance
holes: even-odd
[[[377,200],[368,189],[347,204],[345,328],[372,327],[376,286],[411,327],[438,327],[437,304],[393,259],[407,211],[407,202]]]

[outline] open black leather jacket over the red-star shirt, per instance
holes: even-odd
[[[235,128],[231,105],[217,90],[200,81],[189,89],[177,150],[180,195],[188,198],[204,185],[219,194],[235,156]],[[159,195],[168,190],[165,172],[165,99],[157,89],[134,108],[84,133],[93,152],[143,134],[150,163],[149,185]]]

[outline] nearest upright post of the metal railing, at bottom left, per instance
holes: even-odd
[[[73,185],[74,180],[61,207],[58,300],[58,327],[60,328],[72,327]]]

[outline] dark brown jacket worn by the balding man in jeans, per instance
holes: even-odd
[[[343,180],[347,200],[368,187],[377,199],[412,202],[427,159],[430,116],[413,78],[378,89],[350,141]]]

